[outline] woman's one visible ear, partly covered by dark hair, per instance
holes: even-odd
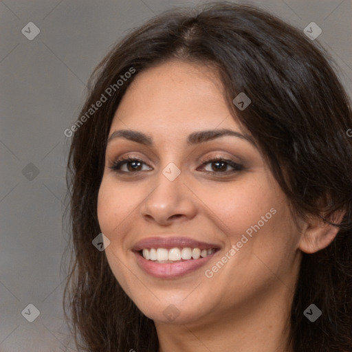
[[[346,214],[345,211],[336,211],[329,218],[330,222],[340,223]],[[327,246],[335,239],[340,228],[330,225],[321,217],[312,217],[304,221],[301,232],[298,248],[305,253],[311,254],[318,252]]]

